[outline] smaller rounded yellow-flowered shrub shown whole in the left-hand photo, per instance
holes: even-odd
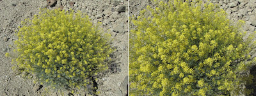
[[[108,69],[109,35],[81,12],[43,9],[19,28],[13,61],[41,84],[74,92]]]

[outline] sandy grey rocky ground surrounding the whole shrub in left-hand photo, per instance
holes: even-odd
[[[31,80],[22,79],[13,72],[10,58],[5,52],[12,51],[9,45],[17,40],[15,30],[19,30],[20,22],[33,17],[39,8],[61,8],[63,10],[80,10],[89,15],[92,22],[102,22],[104,32],[113,38],[112,46],[116,48],[114,61],[109,64],[108,73],[96,82],[99,95],[127,95],[128,84],[128,0],[0,0],[0,95],[61,95],[49,93],[45,86],[34,84]],[[54,21],[52,21],[54,22]],[[82,92],[78,95],[88,95]],[[71,95],[65,92],[64,95]]]

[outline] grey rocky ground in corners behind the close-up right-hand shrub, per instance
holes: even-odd
[[[203,0],[206,1],[206,0]],[[253,31],[256,31],[256,0],[209,0],[214,4],[220,5],[220,8],[228,13],[228,19],[233,22],[238,20],[244,20],[244,31],[247,31],[247,35],[252,35]],[[140,10],[143,10],[147,5],[155,6],[153,0],[129,0],[129,17],[137,17],[140,15]],[[129,24],[129,29],[134,26]],[[255,38],[256,39],[256,38]],[[254,39],[254,40],[255,40]],[[252,52],[252,57],[256,57],[256,50]],[[250,69],[250,74],[254,77],[253,81],[256,81],[256,67]],[[248,86],[250,89],[256,89],[256,83]],[[254,90],[252,95],[256,95]]]

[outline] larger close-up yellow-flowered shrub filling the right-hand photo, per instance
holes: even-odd
[[[202,1],[155,1],[129,34],[130,95],[234,95],[255,62],[254,36],[243,40],[243,21]],[[249,77],[249,78],[248,78]],[[246,90],[247,92],[248,90]]]

